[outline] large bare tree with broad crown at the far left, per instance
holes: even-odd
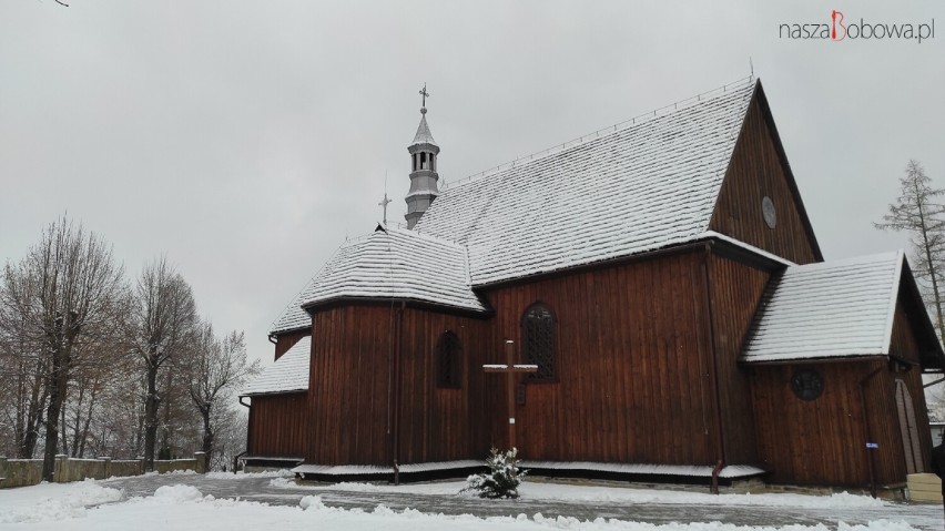
[[[19,264],[4,268],[0,326],[16,329],[19,323],[24,346],[20,354],[35,356],[44,377],[47,481],[53,480],[68,386],[83,361],[77,354],[89,343],[116,335],[122,278],[122,267],[115,265],[104,239],[65,217],[49,225]]]

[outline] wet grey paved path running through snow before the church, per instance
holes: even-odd
[[[240,498],[273,506],[297,506],[309,494],[317,494],[328,507],[373,510],[384,504],[394,510],[406,508],[428,513],[475,514],[477,517],[516,517],[525,513],[546,518],[558,515],[579,520],[596,518],[632,520],[650,523],[709,522],[720,521],[739,525],[813,525],[823,523],[836,529],[839,521],[849,524],[871,520],[905,520],[923,530],[943,531],[941,506],[925,503],[894,503],[882,508],[855,508],[850,510],[807,509],[781,507],[724,507],[680,504],[627,504],[620,502],[565,502],[541,500],[480,500],[468,496],[416,494],[402,492],[350,492],[347,490],[313,490],[308,486],[274,487],[272,478],[246,477],[242,479],[215,479],[190,476],[139,476],[109,480],[105,484],[124,490],[124,499],[151,496],[165,484],[190,484],[204,494],[215,498]]]

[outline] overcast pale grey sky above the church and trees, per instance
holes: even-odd
[[[762,79],[827,259],[906,162],[945,186],[945,2],[3,0],[0,259],[68,212],[130,277],[166,254],[219,330],[266,331],[387,188],[403,219],[418,90],[457,181],[749,75]],[[915,41],[781,23],[916,22]]]

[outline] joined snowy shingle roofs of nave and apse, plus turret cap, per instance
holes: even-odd
[[[302,306],[336,297],[403,297],[484,310],[471,287],[710,236],[754,88],[728,86],[440,192],[415,232],[389,229],[386,239],[375,233],[344,245],[271,333],[309,326]],[[418,142],[434,143],[426,116]]]

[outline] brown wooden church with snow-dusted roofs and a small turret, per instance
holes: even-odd
[[[945,356],[910,266],[823,261],[760,82],[445,190],[420,112],[406,227],[343,244],[273,325],[247,464],[458,474],[514,437],[561,474],[929,469]],[[507,345],[536,366],[512,386],[484,369]]]

